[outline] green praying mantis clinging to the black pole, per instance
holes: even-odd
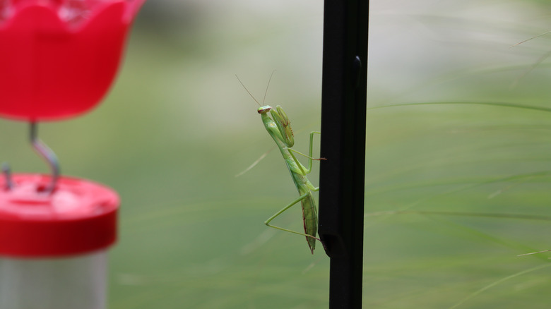
[[[237,77],[237,80],[239,80],[239,77]],[[271,76],[270,76],[270,80],[271,80]],[[270,85],[270,80],[268,80],[268,86]],[[314,134],[321,134],[321,133],[317,131],[313,131],[310,133],[310,145],[309,145],[308,155],[302,154],[301,152],[298,152],[297,150],[292,149],[291,147],[295,145],[295,139],[293,138],[293,134],[292,134],[291,122],[289,121],[287,114],[285,114],[285,111],[283,111],[283,108],[278,105],[274,109],[269,105],[260,104],[254,98],[254,96],[251,95],[251,92],[247,90],[247,87],[243,85],[241,80],[239,80],[239,83],[241,83],[241,85],[245,88],[247,93],[249,93],[249,95],[254,99],[254,101],[260,105],[257,111],[261,115],[262,123],[266,128],[266,131],[268,131],[268,134],[270,134],[270,136],[273,138],[275,145],[279,148],[281,155],[283,155],[285,164],[287,165],[287,168],[289,169],[289,172],[291,174],[292,181],[295,183],[295,186],[297,187],[298,193],[300,195],[298,198],[296,198],[288,205],[283,207],[282,210],[273,214],[272,217],[269,217],[264,222],[264,224],[266,224],[266,226],[272,227],[273,229],[278,229],[280,231],[288,231],[292,234],[305,236],[308,246],[310,248],[310,252],[314,254],[314,249],[316,248],[316,241],[321,242],[321,240],[316,237],[316,233],[318,230],[318,215],[316,210],[316,201],[312,196],[312,192],[318,191],[319,187],[314,187],[314,185],[312,185],[312,183],[307,178],[307,174],[309,174],[312,171],[312,160],[319,161],[319,160],[325,159],[325,158],[314,159],[312,157],[312,144],[314,140]],[[268,92],[268,86],[266,86],[266,92]],[[264,99],[266,99],[266,92],[264,93]],[[263,102],[264,101],[262,101],[262,103]],[[300,154],[304,157],[307,157],[308,167],[304,167],[304,165],[302,165],[297,160],[297,157],[295,157],[295,154]],[[298,202],[300,202],[300,204],[302,205],[302,220],[304,223],[304,233],[301,233],[298,231],[292,231],[290,229],[284,229],[283,227],[274,226],[270,224],[270,222],[272,222],[273,219],[278,217],[280,214],[285,212],[285,210],[288,210],[293,205],[296,205]]]

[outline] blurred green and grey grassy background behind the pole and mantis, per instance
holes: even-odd
[[[371,1],[368,107],[550,107],[548,1]],[[297,195],[256,103],[307,150],[319,128],[322,1],[150,0],[100,107],[40,126],[64,174],[122,197],[109,308],[327,308],[329,260],[263,221]],[[533,68],[533,66],[535,66]],[[371,109],[364,308],[549,308],[551,114]],[[1,157],[47,172],[25,123]],[[310,179],[319,183],[319,167]],[[532,217],[480,217],[472,213]],[[460,215],[461,214],[461,215]],[[278,224],[300,230],[300,209]]]

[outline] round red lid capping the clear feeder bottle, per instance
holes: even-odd
[[[16,174],[13,188],[0,177],[0,256],[61,257],[111,246],[117,238],[119,196],[98,183]]]

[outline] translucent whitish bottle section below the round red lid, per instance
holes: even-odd
[[[105,309],[107,252],[54,259],[0,257],[0,309]]]

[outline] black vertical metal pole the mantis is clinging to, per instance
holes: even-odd
[[[319,235],[329,308],[362,308],[368,0],[326,0]]]

